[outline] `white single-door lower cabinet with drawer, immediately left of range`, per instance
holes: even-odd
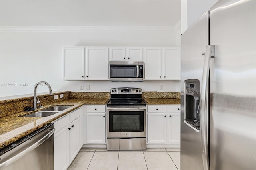
[[[86,144],[106,144],[106,105],[86,107]]]

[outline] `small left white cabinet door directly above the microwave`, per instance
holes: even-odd
[[[125,47],[110,47],[109,55],[110,61],[125,61]]]

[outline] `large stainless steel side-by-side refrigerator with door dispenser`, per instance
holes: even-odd
[[[181,169],[256,169],[256,0],[220,0],[181,36]]]

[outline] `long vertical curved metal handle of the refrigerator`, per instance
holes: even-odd
[[[209,120],[209,73],[210,73],[210,59],[214,57],[214,45],[206,46],[206,53],[204,58],[204,69],[202,76],[202,92],[201,92],[201,107],[200,107],[200,130],[201,130],[201,140],[202,140],[202,158],[204,170],[209,170],[209,142],[208,142],[208,120]]]

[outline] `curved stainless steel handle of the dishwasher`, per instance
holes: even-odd
[[[53,133],[55,132],[55,128],[53,128],[53,129],[49,128],[48,131],[50,131],[50,132],[48,134],[46,134],[44,137],[42,137],[40,140],[38,140],[36,143],[32,144],[31,146],[29,146],[22,152],[16,154],[12,158],[2,162],[0,164],[0,169],[6,168],[10,164],[14,163],[16,160],[19,160],[20,158],[22,158],[23,156],[25,156],[26,154],[28,154],[29,152],[34,150],[36,147],[38,147],[40,144],[42,144],[44,141],[46,141],[48,138],[50,138],[50,136],[53,135]]]

